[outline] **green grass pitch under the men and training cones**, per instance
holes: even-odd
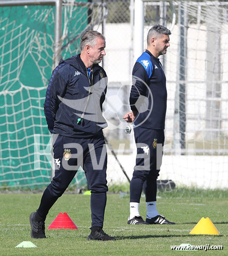
[[[90,233],[90,196],[64,194],[46,219],[47,239],[30,237],[29,215],[39,205],[41,194],[0,193],[0,255],[25,256],[191,256],[228,255],[228,191],[175,190],[159,192],[160,214],[176,225],[128,225],[129,194],[108,194],[104,231],[116,241],[87,241]],[[66,212],[78,230],[47,230],[60,213]],[[145,216],[145,200],[140,212]],[[209,217],[219,236],[190,235],[202,218]],[[36,248],[15,248],[31,241]],[[174,251],[170,245],[223,245],[223,250]]]

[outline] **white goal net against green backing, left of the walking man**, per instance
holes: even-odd
[[[41,1],[42,2],[42,1]],[[79,52],[104,5],[63,1],[61,56]],[[0,189],[42,189],[51,180],[51,136],[43,111],[53,69],[55,6],[0,5]],[[86,184],[79,170],[70,187]]]

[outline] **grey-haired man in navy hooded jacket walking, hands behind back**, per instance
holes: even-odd
[[[98,63],[106,54],[105,46],[102,34],[85,32],[80,41],[81,54],[61,60],[52,73],[44,112],[48,129],[54,134],[55,176],[44,191],[37,211],[30,214],[32,238],[46,238],[48,211],[81,166],[91,190],[92,224],[87,239],[115,240],[102,229],[108,191],[107,152],[102,131],[107,126],[102,116],[107,75]]]

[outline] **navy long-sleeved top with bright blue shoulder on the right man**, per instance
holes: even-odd
[[[133,85],[130,93],[131,110],[139,111],[140,106],[137,104],[137,100],[140,95],[148,99],[148,102],[144,102],[145,105],[148,105],[148,109],[138,112],[134,125],[147,129],[164,130],[167,109],[167,89],[166,76],[162,64],[150,51],[145,50],[136,61],[132,75]]]

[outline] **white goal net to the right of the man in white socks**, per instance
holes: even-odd
[[[144,7],[145,31],[160,23],[172,32],[161,56],[168,109],[160,177],[227,188],[228,2],[146,1]]]

